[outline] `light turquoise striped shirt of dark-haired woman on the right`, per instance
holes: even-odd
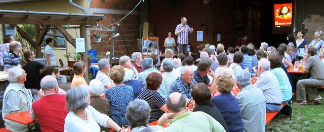
[[[278,67],[271,70],[274,76],[279,81],[281,96],[283,101],[290,100],[292,98],[292,86],[290,85],[289,78],[285,71]]]

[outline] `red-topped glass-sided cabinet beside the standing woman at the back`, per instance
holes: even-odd
[[[158,37],[143,37],[142,53],[149,55],[151,53],[158,53]]]

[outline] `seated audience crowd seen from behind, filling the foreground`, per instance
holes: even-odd
[[[291,101],[293,88],[287,72],[292,60],[285,59],[289,45],[267,47],[267,43],[257,51],[251,44],[242,45],[240,51],[229,47],[226,54],[222,44],[200,45],[195,57],[173,57],[168,50],[161,69],[156,67],[156,54],[143,58],[134,52],[132,57],[120,57],[112,68],[101,59],[89,85],[83,77],[87,64],[79,61],[73,64],[74,78],[66,92],[58,87],[59,70],[52,66],[38,65],[39,87],[25,83],[33,60],[33,52],[26,50],[27,63],[22,65],[26,72],[15,66],[8,70],[3,119],[11,131],[26,131],[27,125],[4,116],[27,110],[44,131],[108,131],[108,127],[120,131],[124,125],[132,131],[265,131],[265,113],[279,111]],[[298,81],[296,104],[320,104],[321,97],[309,85],[324,86],[324,74],[316,74],[324,63],[316,48],[306,51],[305,72],[312,78]],[[254,84],[252,76],[258,77]],[[27,87],[40,89],[31,93]],[[233,87],[240,89],[236,96]],[[157,126],[148,126],[154,121]],[[158,126],[169,122],[167,128]]]

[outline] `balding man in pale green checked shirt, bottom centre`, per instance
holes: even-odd
[[[170,113],[165,113],[157,122],[157,125],[163,125],[172,118],[165,131],[225,131],[212,116],[201,111],[188,111],[186,96],[182,93],[171,93],[167,97],[167,108]]]

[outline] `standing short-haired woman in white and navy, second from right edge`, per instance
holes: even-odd
[[[306,39],[303,39],[304,35],[305,33],[303,33],[302,31],[298,31],[297,33],[296,44],[298,60],[303,59],[305,51],[307,52],[307,41]]]

